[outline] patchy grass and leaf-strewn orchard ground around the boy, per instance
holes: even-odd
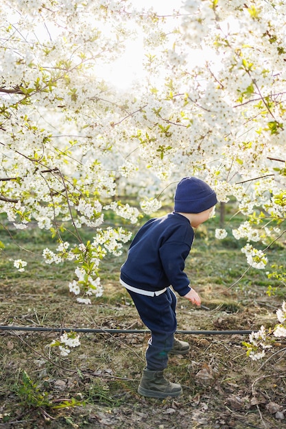
[[[231,211],[226,213],[227,222],[231,216]],[[108,221],[120,225],[119,219]],[[217,218],[202,225],[186,264],[191,284],[210,310],[193,308],[178,297],[178,329],[244,330],[260,328],[261,324],[271,326],[276,320],[276,308],[285,297],[285,287],[279,278],[267,278],[265,271],[255,269],[248,270],[237,282],[248,269],[246,258],[240,252],[240,243],[230,234],[222,241],[215,239],[217,226]],[[74,275],[73,262],[55,266],[43,260],[43,248],[56,247],[49,232],[7,228],[8,225],[0,227],[0,241],[8,242],[0,254],[1,325],[144,328],[128,293],[118,281],[128,245],[118,258],[110,255],[104,258],[100,272],[104,295],[94,299],[91,306],[82,306],[75,302],[67,287]],[[138,227],[132,228],[135,232]],[[87,228],[81,234],[86,241],[93,237],[93,230]],[[70,232],[63,238],[73,243]],[[27,252],[23,253],[22,248]],[[271,271],[271,265],[285,260],[285,245],[274,243],[267,256]],[[13,267],[13,260],[19,258],[28,262],[23,273]],[[275,291],[271,297],[267,295],[269,286]],[[215,422],[222,426],[219,421],[224,420],[237,429],[250,425],[263,428],[261,415],[272,421],[272,427],[277,423],[267,414],[262,398],[261,415],[257,407],[248,405],[250,399],[245,400],[251,397],[252,382],[261,373],[259,364],[246,357],[241,336],[184,337],[191,344],[191,354],[170,358],[166,371],[169,379],[183,385],[184,397],[175,403],[144,399],[136,393],[145,365],[148,335],[82,334],[82,345],[65,358],[46,347],[55,338],[58,338],[55,332],[0,332],[0,426],[12,427],[15,422],[24,429],[45,426],[115,429],[163,426],[165,429],[180,427],[180,421],[182,428],[212,428],[220,427],[212,426]],[[283,349],[283,343],[276,347]],[[278,372],[279,365],[278,358],[277,362],[270,361],[266,373]],[[213,371],[208,382],[198,377],[203,369]],[[276,388],[273,382],[268,382],[266,387],[263,385],[263,392],[269,401],[283,403],[285,384],[281,378],[275,381]],[[241,396],[244,401],[241,409],[232,410],[232,394]],[[257,397],[260,400],[259,394]],[[208,404],[208,417],[202,404]],[[208,419],[202,426],[198,423],[200,410],[201,418]],[[285,427],[283,422],[278,423]]]

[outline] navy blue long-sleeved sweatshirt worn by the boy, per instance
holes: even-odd
[[[171,285],[179,295],[187,295],[191,287],[184,273],[184,261],[193,235],[189,219],[176,212],[150,219],[130,245],[128,258],[121,267],[121,280],[154,292]]]

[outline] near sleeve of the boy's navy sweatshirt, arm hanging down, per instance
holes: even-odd
[[[191,247],[187,243],[176,243],[174,241],[171,243],[166,242],[160,247],[160,259],[165,274],[173,289],[180,296],[187,295],[191,291],[189,278],[184,273],[184,261],[189,255],[190,250]]]

